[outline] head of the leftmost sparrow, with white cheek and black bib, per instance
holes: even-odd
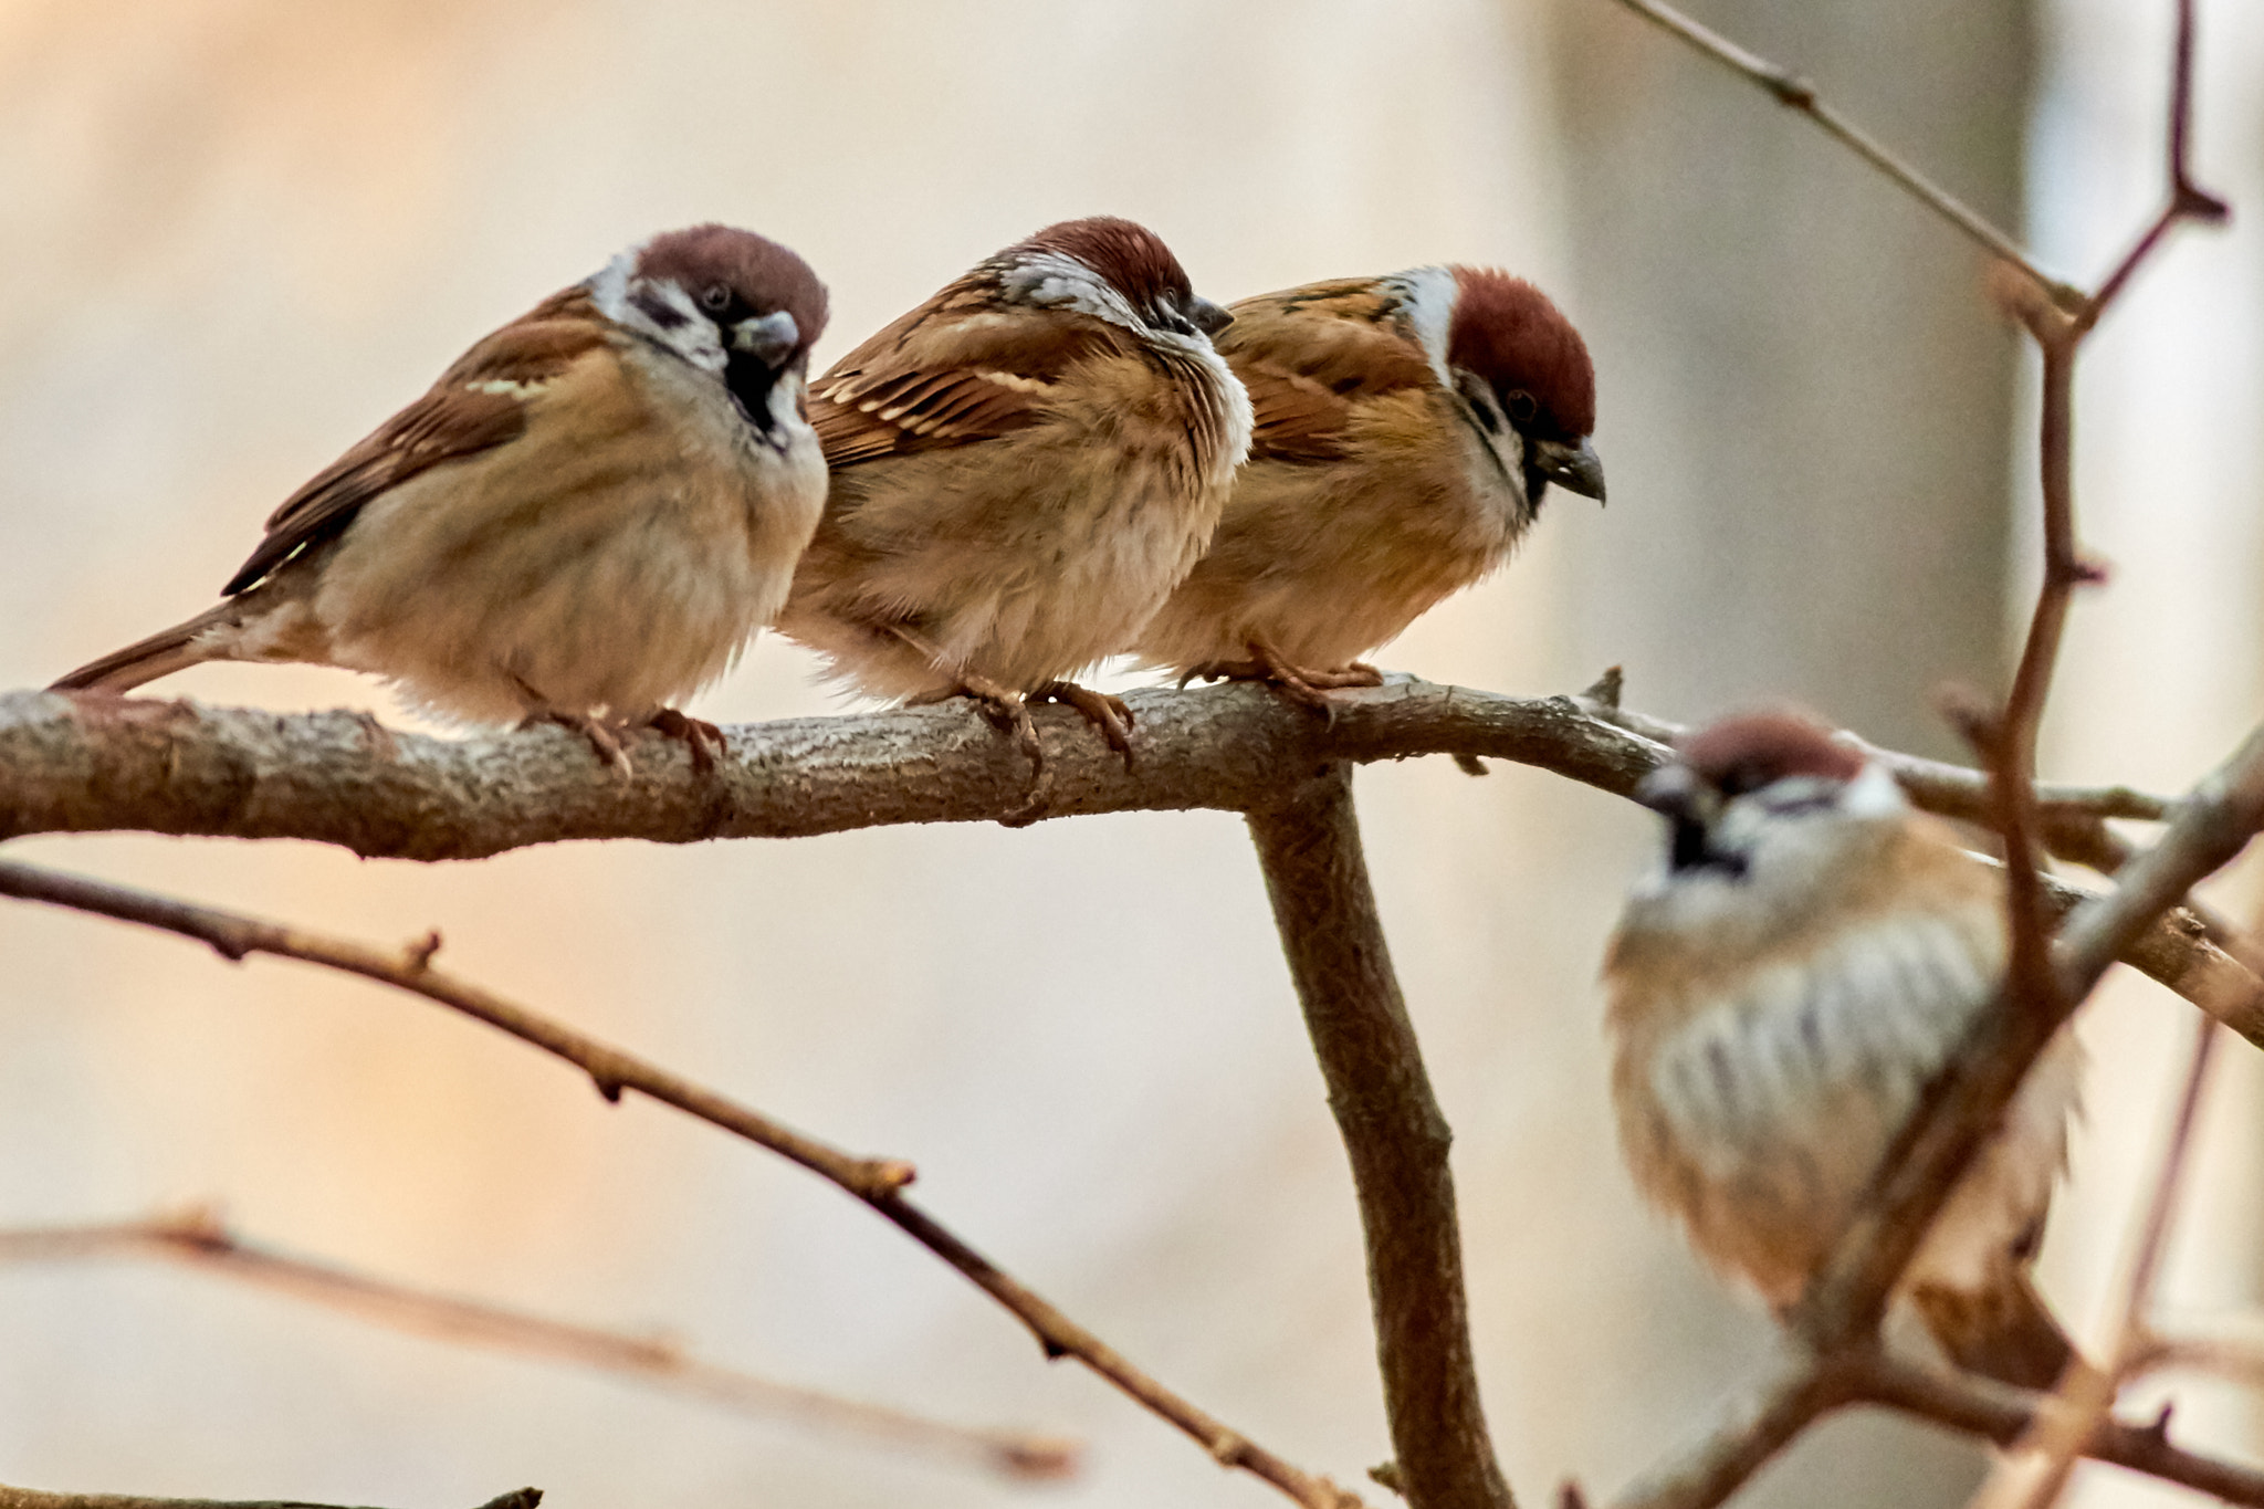
[[[763,434],[797,412],[826,328],[826,285],[811,265],[731,226],[654,235],[614,258],[591,294],[609,319],[722,378]]]

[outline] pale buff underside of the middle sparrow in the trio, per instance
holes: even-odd
[[[962,674],[1028,692],[1123,652],[1202,554],[1225,486],[1195,471],[1146,362],[1098,357],[1060,389],[1078,396],[1026,430],[835,473],[779,631],[874,697]]]

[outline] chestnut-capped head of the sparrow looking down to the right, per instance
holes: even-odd
[[[1587,342],[1537,287],[1492,267],[1449,267],[1444,376],[1530,520],[1551,482],[1603,502],[1596,364]],[[1417,321],[1422,324],[1422,321]],[[1438,353],[1433,353],[1438,360]]]

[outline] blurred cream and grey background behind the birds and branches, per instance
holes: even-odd
[[[2162,190],[2169,0],[1707,0],[2040,258],[2094,281]],[[2083,600],[2047,774],[2173,790],[2264,710],[2264,14],[2201,5],[2187,233],[2083,364]],[[0,0],[0,685],[211,602],[292,486],[473,337],[657,228],[727,219],[831,283],[820,362],[1069,215],[1198,290],[1433,260],[1535,276],[1596,351],[1612,507],[1381,661],[1506,692],[1628,667],[1707,717],[1793,695],[1956,749],[2033,572],[2033,373],[1983,265],[1750,86],[1607,0]],[[165,692],[387,695],[204,667]],[[695,710],[838,710],[763,640]],[[1768,1326],[1610,1140],[1596,957],[1641,810],[1444,760],[1358,799],[1447,1113],[1487,1407],[1528,1502],[1619,1489],[1757,1376]],[[1349,1179],[1236,819],[1141,814],[480,864],[88,837],[23,857],[455,968],[854,1149],[1109,1342],[1345,1482],[1390,1455]],[[2228,905],[2250,905],[2239,885]],[[1014,968],[996,968],[996,959]],[[2087,1009],[2047,1249],[2112,1283],[2189,1009]],[[2171,1299],[2264,1281],[2264,1072],[2228,1052]],[[134,1262],[0,1269],[0,1482],[555,1509],[1263,1504],[851,1201],[369,986],[0,909],[0,1224],[215,1199],[376,1274],[632,1328],[969,1423],[1091,1441],[1064,1486],[761,1425]],[[2255,1407],[2180,1382],[2192,1439]],[[1956,1502],[1979,1452],[1850,1419],[1750,1502]],[[2151,1502],[2112,1473],[2083,1502]],[[1381,1493],[1370,1489],[1370,1498]]]

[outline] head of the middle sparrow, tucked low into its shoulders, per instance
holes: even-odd
[[[1007,299],[1073,308],[1166,344],[1202,344],[1234,317],[1200,296],[1148,226],[1091,215],[1046,226],[989,262]]]

